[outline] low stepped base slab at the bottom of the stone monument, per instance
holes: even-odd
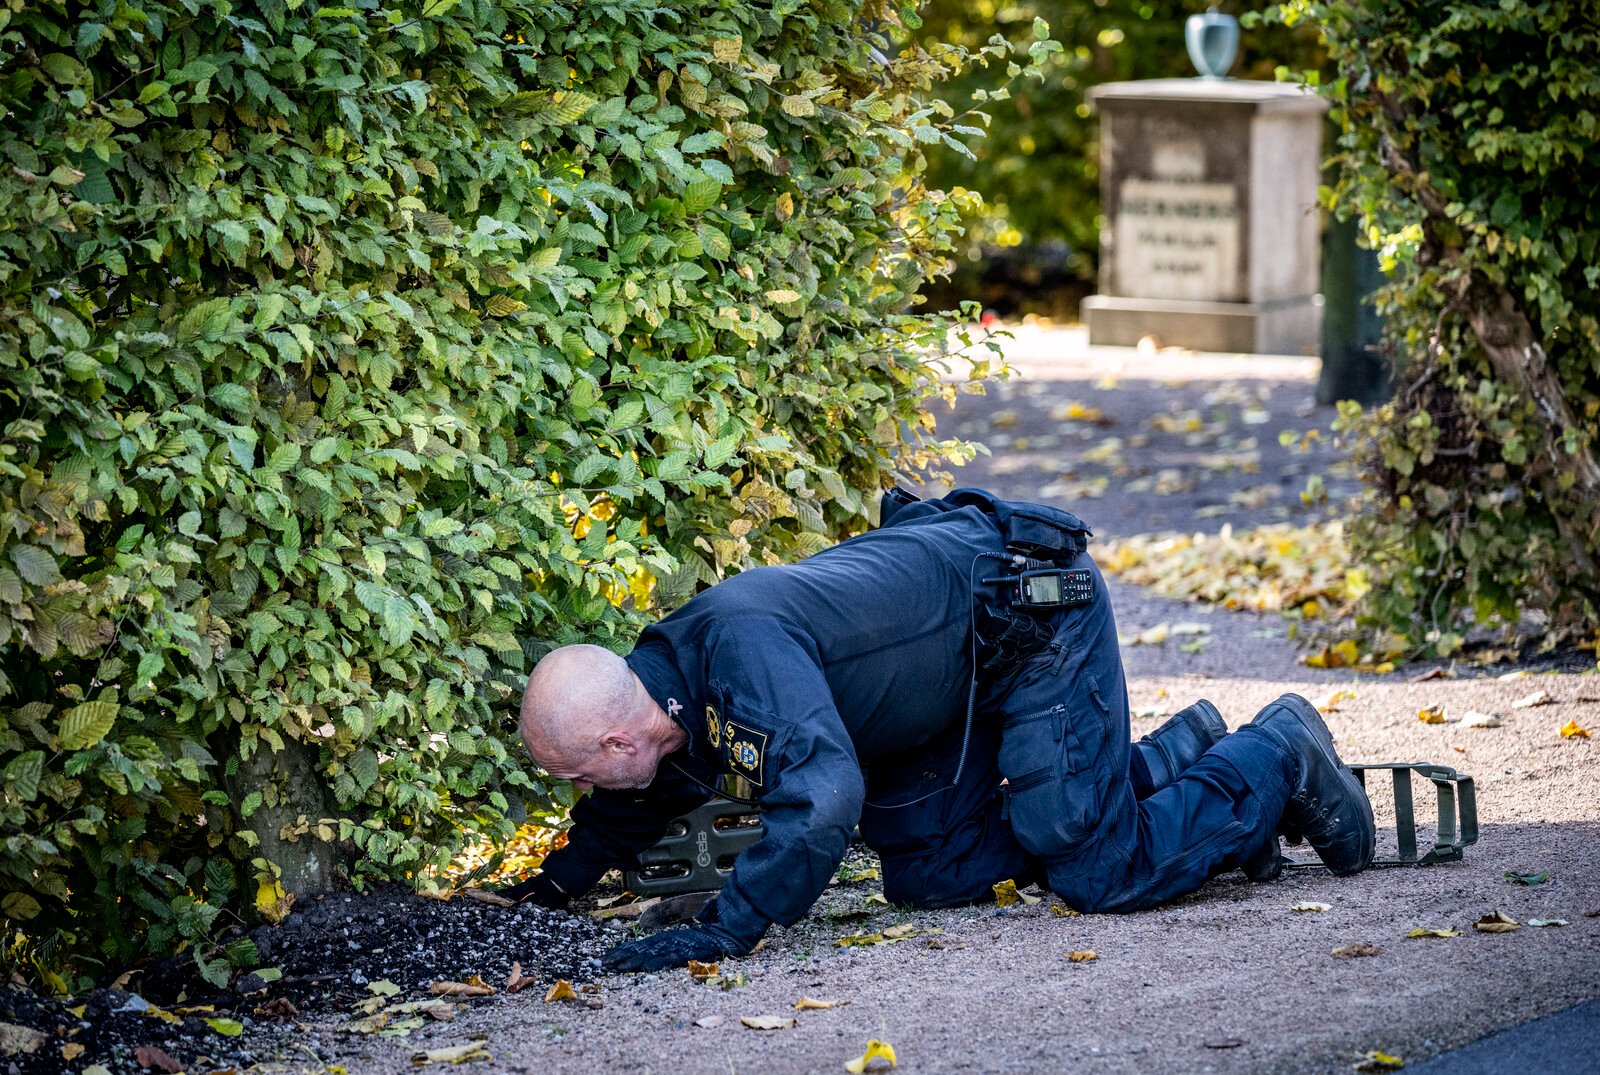
[[[1090,344],[1131,347],[1155,336],[1165,347],[1315,355],[1322,344],[1322,299],[1275,302],[1184,302],[1091,294],[1083,299]]]

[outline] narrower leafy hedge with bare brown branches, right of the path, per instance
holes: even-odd
[[[1370,498],[1363,621],[1448,654],[1472,627],[1600,624],[1600,10],[1307,0],[1342,126],[1331,203],[1381,253],[1390,405],[1344,408]]]

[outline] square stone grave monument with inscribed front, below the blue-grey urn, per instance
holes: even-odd
[[[1106,213],[1090,342],[1315,355],[1326,101],[1224,78],[1114,82],[1090,101]]]

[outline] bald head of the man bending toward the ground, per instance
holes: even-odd
[[[522,696],[522,741],[546,773],[589,787],[645,787],[686,734],[602,646],[552,649]]]

